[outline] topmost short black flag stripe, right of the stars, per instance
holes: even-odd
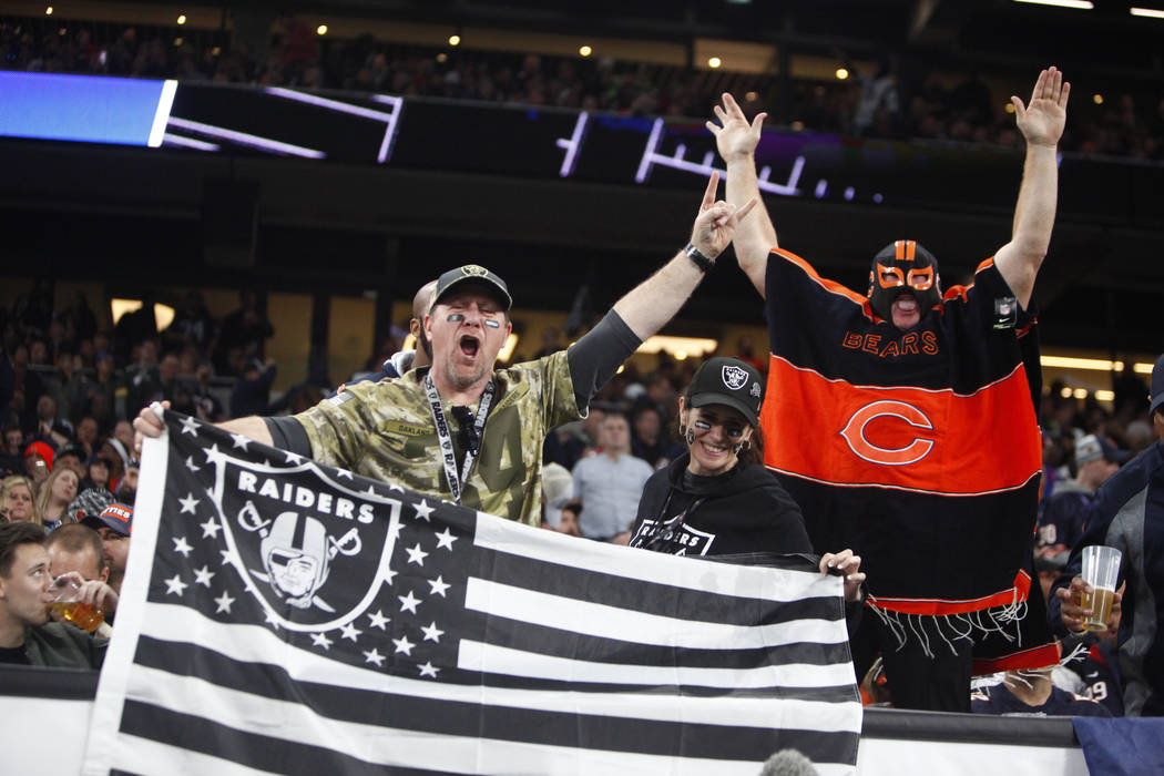
[[[627,611],[660,617],[682,617],[690,621],[772,625],[804,619],[830,621],[845,619],[839,596],[792,601],[737,598],[655,582],[627,579],[482,547],[476,548],[474,553],[469,576]]]

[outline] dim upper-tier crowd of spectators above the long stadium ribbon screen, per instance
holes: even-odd
[[[782,105],[778,77],[653,65],[610,57],[561,57],[469,48],[425,48],[320,37],[283,16],[265,54],[226,33],[177,27],[0,19],[0,69],[213,80],[405,97],[512,102],[641,115],[701,116],[724,91],[750,114],[797,130],[1021,148],[1022,138],[986,73],[949,73],[882,62],[847,80],[793,79]],[[1113,85],[1101,104],[1079,105],[1060,148],[1164,158],[1164,94]]]

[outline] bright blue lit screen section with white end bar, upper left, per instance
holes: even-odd
[[[0,72],[0,135],[157,147],[178,83]]]

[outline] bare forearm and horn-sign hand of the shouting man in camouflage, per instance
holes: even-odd
[[[703,192],[700,214],[691,229],[691,244],[712,262],[732,241],[740,220],[755,206],[754,199],[740,207],[716,201],[718,185],[719,173],[715,172]],[[681,250],[658,272],[619,299],[615,312],[636,336],[646,340],[675,316],[695,286],[703,280],[703,275],[704,270]]]

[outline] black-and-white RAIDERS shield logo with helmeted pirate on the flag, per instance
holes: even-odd
[[[360,617],[388,581],[402,503],[352,490],[311,461],[288,469],[219,454],[212,462],[223,556],[268,620],[313,632]]]

